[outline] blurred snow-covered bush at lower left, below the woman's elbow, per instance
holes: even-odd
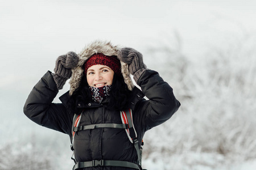
[[[11,135],[5,136],[6,142],[0,147],[1,170],[72,169],[73,152],[68,135],[36,124],[19,125],[22,130],[10,131]]]

